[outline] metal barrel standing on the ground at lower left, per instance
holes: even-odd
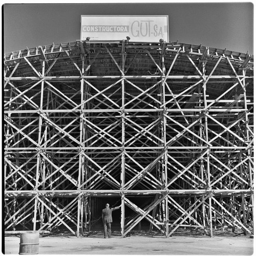
[[[18,254],[38,254],[39,232],[20,234]]]

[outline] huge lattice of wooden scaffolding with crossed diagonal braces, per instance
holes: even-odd
[[[4,59],[5,230],[253,227],[253,56],[75,41]]]

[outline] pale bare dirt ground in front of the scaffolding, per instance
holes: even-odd
[[[5,254],[18,254],[19,234],[6,234]],[[85,255],[252,255],[253,238],[239,233],[219,232],[214,237],[197,233],[176,234],[165,238],[159,234],[136,233],[121,238],[113,232],[104,239],[102,232],[90,232],[77,238],[72,234],[40,234],[39,254]]]

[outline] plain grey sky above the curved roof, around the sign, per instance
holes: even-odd
[[[253,54],[251,2],[5,3],[4,53],[79,40],[81,15],[168,15],[169,41]]]

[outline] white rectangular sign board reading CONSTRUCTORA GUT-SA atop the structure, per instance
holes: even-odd
[[[81,40],[169,41],[168,16],[81,15]]]

